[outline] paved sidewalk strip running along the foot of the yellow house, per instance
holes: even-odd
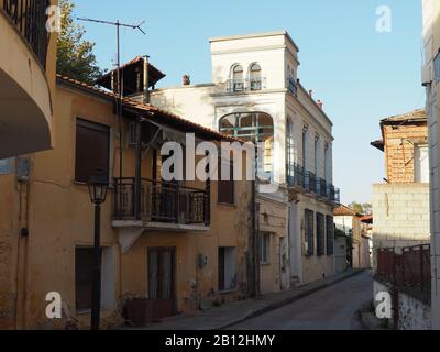
[[[258,317],[274,309],[287,306],[300,298],[309,296],[326,287],[340,283],[349,277],[363,273],[362,270],[351,270],[326,279],[293,288],[286,292],[264,295],[261,299],[248,299],[229,302],[207,311],[200,311],[194,317],[174,317],[160,323],[144,328],[124,328],[133,330],[222,330],[248,319]]]

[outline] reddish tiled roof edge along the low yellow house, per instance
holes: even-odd
[[[66,77],[66,76],[62,76],[62,75],[57,75],[57,78],[61,81],[70,84],[73,86],[76,86],[78,88],[87,90],[87,91],[89,91],[91,94],[99,95],[99,96],[102,96],[102,97],[106,97],[106,98],[109,98],[109,99],[117,99],[117,95],[114,95],[113,92],[111,92],[109,90],[101,89],[101,88],[99,88],[97,86],[91,86],[91,85],[88,85],[86,82],[82,82],[82,81]],[[184,118],[180,118],[177,114],[174,114],[172,112],[162,110],[162,109],[160,109],[160,108],[157,108],[155,106],[145,105],[145,103],[142,103],[142,102],[135,101],[133,99],[129,99],[129,98],[123,98],[122,100],[123,100],[123,105],[125,107],[130,107],[130,108],[133,108],[133,109],[146,111],[146,112],[156,113],[153,117],[148,117],[148,119],[151,119],[152,121],[160,120],[157,122],[178,124],[179,127],[185,128],[185,130],[187,132],[199,132],[199,133],[201,133],[204,135],[212,138],[213,140],[219,140],[219,141],[226,140],[226,141],[241,142],[242,143],[242,141],[233,139],[230,135],[213,131],[213,130],[208,129],[208,128],[206,128],[206,127],[204,127],[201,124],[195,123],[195,122],[186,120]]]

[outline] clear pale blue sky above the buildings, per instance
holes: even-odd
[[[76,0],[76,14],[136,23],[122,30],[122,61],[148,54],[167,74],[161,86],[210,81],[212,36],[287,30],[300,48],[299,78],[334,123],[334,183],[344,202],[371,201],[385,177],[384,157],[370,142],[378,121],[424,107],[420,85],[421,0]],[[393,30],[378,33],[376,9],[392,9]],[[116,58],[114,30],[85,23],[99,64]]]

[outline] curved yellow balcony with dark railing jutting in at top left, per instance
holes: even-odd
[[[0,160],[52,146],[56,33],[46,9],[57,1],[0,6]]]

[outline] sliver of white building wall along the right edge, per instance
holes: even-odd
[[[422,0],[422,84],[427,88],[426,111],[431,169],[432,328],[440,329],[440,2]]]

